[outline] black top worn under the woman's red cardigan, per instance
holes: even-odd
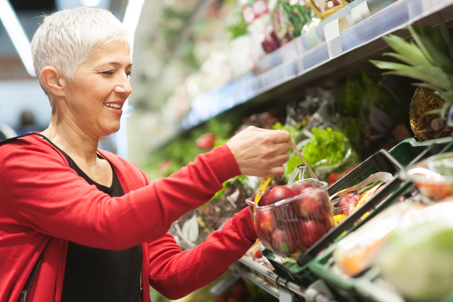
[[[111,186],[103,186],[88,177],[72,158],[49,139],[42,134],[38,135],[63,153],[69,166],[89,184],[95,185],[111,197],[124,195],[113,168]],[[98,157],[102,158],[99,153]],[[141,245],[116,251],[96,249],[69,241],[61,302],[140,302],[142,259]]]

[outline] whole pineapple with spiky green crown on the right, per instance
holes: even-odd
[[[453,41],[442,17],[439,29],[419,26],[416,31],[409,26],[412,40],[406,41],[395,35],[384,37],[395,53],[384,55],[404,63],[371,60],[384,74],[411,77],[424,81],[410,103],[410,125],[419,140],[450,135],[452,129],[445,126],[448,107],[453,104]]]

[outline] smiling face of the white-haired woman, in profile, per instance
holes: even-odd
[[[92,57],[77,67],[65,89],[66,114],[84,133],[99,138],[120,129],[122,107],[132,92],[131,69],[127,42],[96,48]]]

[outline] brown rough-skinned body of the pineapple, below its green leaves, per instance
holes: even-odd
[[[427,115],[426,112],[442,108],[444,101],[434,90],[417,87],[410,101],[410,128],[419,141],[438,139],[452,133],[452,129],[444,125],[439,115]]]

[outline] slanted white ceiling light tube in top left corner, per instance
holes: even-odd
[[[10,36],[17,53],[19,53],[20,60],[22,60],[25,69],[30,76],[36,77],[31,58],[29,38],[27,37],[27,34],[25,34],[25,31],[8,0],[0,0],[0,20],[3,23],[3,26],[5,26],[6,32]]]

